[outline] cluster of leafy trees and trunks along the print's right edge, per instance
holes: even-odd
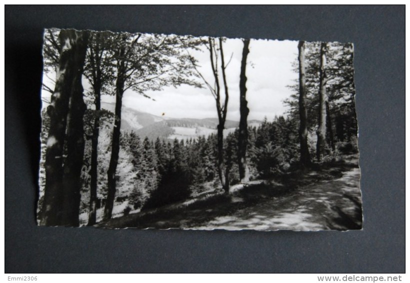
[[[294,68],[299,80],[289,85],[294,92],[284,103],[300,125],[302,163],[308,164],[312,156],[320,161],[339,151],[356,152],[353,45],[299,41],[298,49]],[[315,149],[310,145],[309,155],[305,144],[313,139]]]

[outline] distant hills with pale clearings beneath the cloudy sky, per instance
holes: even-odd
[[[114,103],[101,102],[101,107],[114,111]],[[259,120],[249,120],[248,125],[257,126]],[[141,138],[147,136],[149,139],[168,138],[168,139],[189,139],[198,136],[208,136],[216,134],[218,124],[217,118],[167,118],[140,112],[128,107],[122,107],[121,130],[135,131]],[[239,126],[238,121],[226,120],[224,135],[233,132]]]

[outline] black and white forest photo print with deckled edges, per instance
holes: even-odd
[[[38,225],[362,228],[354,42],[43,39]]]

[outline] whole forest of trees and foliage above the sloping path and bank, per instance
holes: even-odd
[[[39,224],[94,225],[115,213],[207,191],[228,194],[236,183],[357,152],[352,44],[299,41],[294,63],[299,79],[284,101],[289,112],[256,127],[247,125],[246,64],[252,40],[242,40],[239,127],[224,136],[230,62],[224,40],[45,30],[44,75],[55,73],[55,80],[43,84],[51,98],[42,112]],[[202,48],[209,52],[211,82],[187,51]],[[84,91],[82,79],[91,91]],[[217,110],[216,134],[150,140],[121,130],[127,89],[150,99],[147,90],[181,84],[209,89]],[[101,95],[115,96],[114,112],[101,108]]]

